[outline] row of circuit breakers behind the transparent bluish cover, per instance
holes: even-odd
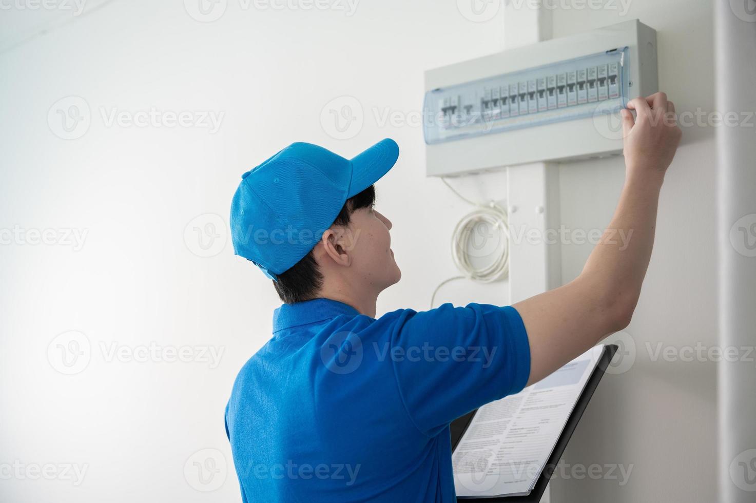
[[[426,93],[426,143],[616,111],[627,104],[627,48]]]

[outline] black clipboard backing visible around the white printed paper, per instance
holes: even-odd
[[[457,498],[457,501],[460,503],[463,501],[466,503],[477,503],[478,501],[488,501],[489,503],[539,503],[554,470],[556,470],[556,466],[559,464],[559,460],[562,458],[562,454],[567,447],[567,442],[569,442],[569,439],[572,437],[572,433],[575,432],[575,427],[578,426],[580,418],[583,417],[583,412],[587,408],[588,402],[590,402],[590,397],[593,396],[593,392],[596,391],[596,387],[599,386],[601,377],[604,376],[606,368],[609,367],[609,362],[612,362],[612,357],[615,356],[617,348],[618,346],[616,344],[608,344],[604,346],[599,362],[596,364],[593,374],[588,377],[583,393],[581,393],[578,402],[575,403],[575,408],[572,409],[572,414],[570,414],[567,419],[564,430],[562,430],[562,434],[559,435],[559,439],[556,441],[556,445],[544,465],[544,470],[541,472],[538,480],[536,480],[530,494],[526,496],[500,496],[494,498]],[[477,411],[478,410],[476,409],[463,415],[461,418],[452,421],[449,427],[451,431],[452,453],[454,453],[454,449],[457,449],[457,444],[460,442],[460,439],[462,439],[472,417]]]

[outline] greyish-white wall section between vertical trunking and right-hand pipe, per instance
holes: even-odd
[[[627,18],[657,30],[659,87],[678,113],[714,110],[711,2],[636,0]],[[560,10],[553,20],[558,37],[613,23],[616,14]],[[581,480],[575,472],[551,484],[553,501],[717,499],[716,363],[654,358],[660,343],[668,351],[717,346],[715,165],[714,127],[683,127],[662,189],[643,294],[621,337],[631,354],[601,383],[563,458],[565,466],[632,465],[629,482]],[[623,169],[621,159],[563,166],[563,223],[606,225]],[[589,247],[562,249],[565,281],[578,275],[588,253]]]

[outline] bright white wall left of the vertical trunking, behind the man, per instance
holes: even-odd
[[[113,2],[0,54],[0,228],[88,230],[79,251],[0,247],[0,463],[88,467],[79,486],[0,480],[2,501],[239,501],[233,470],[205,493],[184,480],[184,464],[206,448],[231,462],[225,403],[243,362],[268,339],[279,301],[230,243],[200,258],[184,243],[184,228],[205,213],[225,219],[241,173],[286,144],[312,141],[348,156],[380,138],[400,144],[401,160],[378,185],[378,206],[395,222],[404,281],[381,299],[382,312],[426,308],[435,285],[455,274],[448,238],[466,206],[424,177],[420,128],[377,126],[370,108],[419,110],[423,70],[494,50],[497,23],[471,23],[454,3],[430,0],[360,2],[351,17],[239,6],[228,2],[221,19],[200,23],[181,2]],[[14,18],[36,26],[28,11],[2,16],[4,34]],[[69,95],[88,102],[91,127],[63,140],[47,115]],[[324,105],[342,95],[370,113],[349,140],[331,138],[320,120]],[[106,127],[99,107],[214,110],[225,118],[214,135]],[[449,285],[439,300],[453,299],[460,286]],[[459,302],[472,297],[467,291]],[[491,291],[484,300],[506,303]],[[92,349],[88,367],[74,375],[60,374],[47,357],[67,331],[81,331]],[[151,341],[225,352],[209,369],[107,362],[101,349]]]

